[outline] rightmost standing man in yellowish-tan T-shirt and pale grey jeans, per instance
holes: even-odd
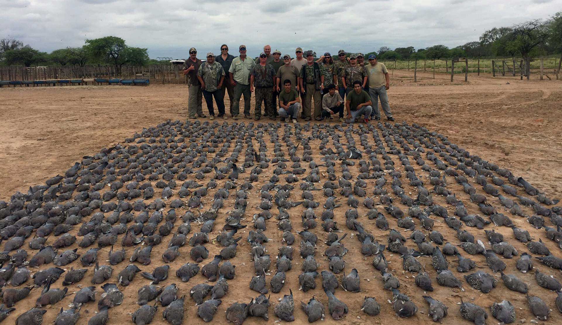
[[[375,109],[373,116],[375,120],[380,120],[380,111],[378,98],[380,98],[380,105],[383,107],[384,114],[389,121],[393,121],[390,106],[388,105],[387,90],[390,88],[390,79],[388,77],[388,70],[382,62],[377,62],[377,56],[374,54],[369,55],[369,64],[365,65],[365,70],[369,79],[369,96],[373,100]]]

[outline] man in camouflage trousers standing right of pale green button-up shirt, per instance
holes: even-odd
[[[256,88],[256,106],[253,114],[254,119],[259,121],[261,118],[261,102],[264,102],[264,115],[269,119],[275,120],[273,112],[273,81],[275,79],[275,69],[268,63],[268,57],[264,52],[260,54],[260,63],[253,66],[250,73],[250,92]]]

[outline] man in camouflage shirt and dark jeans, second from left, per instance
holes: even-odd
[[[224,69],[219,62],[215,61],[215,55],[212,52],[207,53],[207,62],[202,64],[197,71],[197,79],[203,89],[203,97],[209,109],[209,119],[215,119],[215,111],[212,107],[212,98],[215,97],[216,107],[219,109],[219,118],[226,119],[224,115],[224,96],[221,97],[220,88],[223,87]]]

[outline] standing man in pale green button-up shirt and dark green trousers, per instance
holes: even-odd
[[[230,75],[230,84],[234,87],[234,105],[232,106],[232,116],[234,120],[238,119],[238,114],[240,114],[240,98],[244,94],[244,117],[251,119],[250,116],[250,97],[252,92],[250,91],[250,71],[252,71],[255,62],[251,58],[246,57],[246,46],[241,45],[238,47],[240,52],[239,57],[235,57],[232,60],[230,69],[228,69]]]

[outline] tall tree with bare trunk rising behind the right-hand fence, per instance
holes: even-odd
[[[531,58],[537,54],[539,46],[545,44],[549,29],[540,19],[523,22],[513,26],[507,42],[507,48],[520,53],[525,61],[525,75],[530,74]]]

